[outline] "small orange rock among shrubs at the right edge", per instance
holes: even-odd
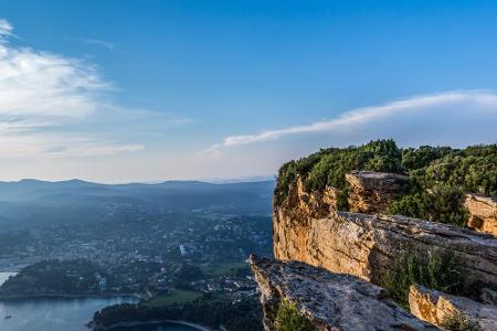
[[[464,206],[469,212],[467,226],[497,236],[497,199],[466,194]]]

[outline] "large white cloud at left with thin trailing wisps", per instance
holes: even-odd
[[[145,146],[129,141],[130,132],[149,134],[188,121],[116,104],[110,97],[115,87],[95,65],[14,46],[9,42],[12,31],[0,19],[0,158],[137,151]]]

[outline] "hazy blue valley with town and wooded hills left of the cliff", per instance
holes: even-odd
[[[175,185],[180,189],[169,188],[167,194],[191,190],[192,184]],[[0,287],[0,301],[9,308],[1,317],[6,330],[30,330],[28,324],[24,328],[14,322],[24,313],[20,302],[24,302],[22,307],[28,309],[28,314],[30,307],[36,305],[40,307],[33,309],[40,311],[80,305],[85,321],[72,320],[78,321],[81,328],[86,328],[94,313],[107,306],[160,310],[162,316],[166,309],[175,312],[170,319],[145,321],[140,318],[117,321],[106,313],[98,314],[99,321],[119,325],[119,330],[125,327],[131,330],[135,323],[181,320],[178,307],[187,307],[182,311],[186,320],[195,320],[192,317],[200,316],[199,309],[219,307],[218,314],[211,313],[211,320],[203,321],[212,325],[229,323],[243,313],[248,313],[246,317],[252,322],[260,322],[256,284],[245,260],[251,252],[272,254],[267,213],[273,185],[247,185],[255,186],[255,192],[247,192],[244,185],[239,189],[229,184],[225,190],[233,202],[222,197],[224,204],[209,204],[212,199],[220,199],[210,196],[218,193],[218,186],[214,191],[202,188],[197,195],[188,192],[189,199],[199,200],[190,210],[184,210],[184,203],[165,209],[167,201],[157,207],[150,202],[157,197],[152,195],[148,203],[113,202],[108,215],[98,221],[89,218],[82,224],[67,220],[0,233],[1,269],[17,271]],[[247,200],[247,196],[253,197]],[[92,207],[99,209],[102,204]],[[108,207],[106,204],[105,209]],[[200,303],[188,306],[193,302]],[[231,307],[246,308],[225,313],[225,308]],[[9,312],[12,310],[18,312]],[[96,323],[89,325],[97,328]],[[187,330],[190,327],[163,322],[157,328]]]

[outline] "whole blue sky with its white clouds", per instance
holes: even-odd
[[[496,142],[496,17],[477,0],[0,0],[0,179],[244,178],[383,137]]]

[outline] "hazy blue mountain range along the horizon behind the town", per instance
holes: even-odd
[[[274,181],[98,184],[81,180],[0,182],[0,231],[33,225],[108,221],[160,210],[268,214]]]

